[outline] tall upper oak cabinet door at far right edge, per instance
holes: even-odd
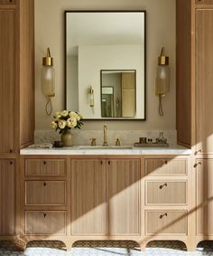
[[[213,9],[196,11],[196,150],[213,154]]]

